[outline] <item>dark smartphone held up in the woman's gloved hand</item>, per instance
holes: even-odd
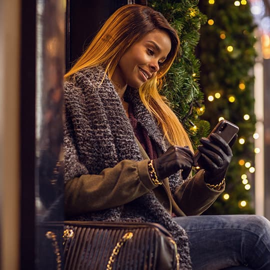
[[[216,126],[212,129],[211,133],[217,133],[218,135],[220,135],[227,143],[229,143],[231,141],[231,139],[234,137],[234,135],[238,132],[239,127],[234,124],[231,123],[228,120],[220,120]],[[210,134],[208,135],[207,138],[209,138]],[[193,157],[194,160],[194,165],[197,166],[198,165],[198,159],[200,157],[200,151],[196,151]]]

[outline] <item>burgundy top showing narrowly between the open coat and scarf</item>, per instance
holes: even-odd
[[[133,108],[132,104],[128,103],[128,115],[129,115],[129,121],[133,127],[134,133],[140,144],[142,145],[145,152],[148,154],[150,159],[157,158],[156,151],[153,147],[153,141],[149,137],[147,131],[141,124],[137,121],[133,114]]]

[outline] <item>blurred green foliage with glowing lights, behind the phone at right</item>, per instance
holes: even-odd
[[[252,175],[247,168],[240,166],[238,161],[243,159],[252,165],[254,163],[252,67],[256,56],[253,47],[255,26],[248,4],[235,6],[234,0],[216,0],[214,4],[209,4],[208,0],[201,0],[199,7],[208,19],[214,21],[212,25],[205,24],[201,27],[197,50],[201,61],[200,85],[205,94],[205,113],[202,118],[209,121],[213,127],[222,116],[237,124],[240,128],[238,137],[245,139],[244,144],[237,141],[233,146],[234,156],[226,175],[225,192],[230,195],[229,199],[219,197],[206,213],[252,213],[251,192],[244,189],[241,174],[247,174],[251,186]],[[233,47],[231,52],[227,50],[228,46]],[[243,85],[245,88],[240,89],[239,86]],[[216,92],[219,92],[221,97],[208,101],[207,97],[214,96]],[[235,97],[234,102],[228,101],[230,95]],[[250,118],[244,120],[244,114],[248,114]],[[240,208],[240,200],[246,200],[247,206]]]

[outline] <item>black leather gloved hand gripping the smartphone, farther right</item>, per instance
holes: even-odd
[[[234,135],[228,144],[221,136],[216,133],[210,134],[209,138],[202,137],[198,146],[201,155],[198,165],[205,170],[204,181],[209,184],[220,183],[227,171],[232,157],[231,147],[237,139]]]

